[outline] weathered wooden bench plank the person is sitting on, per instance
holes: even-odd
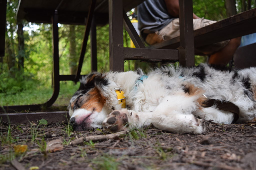
[[[234,15],[194,31],[195,47],[240,37],[256,32],[256,8]],[[150,49],[175,49],[180,37],[148,46]]]

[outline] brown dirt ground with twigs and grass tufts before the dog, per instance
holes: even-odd
[[[207,124],[203,135],[147,127],[72,145],[80,137],[109,133],[70,132],[64,124],[9,128],[1,122],[0,169],[256,169],[255,123]],[[17,149],[19,144],[27,150]]]

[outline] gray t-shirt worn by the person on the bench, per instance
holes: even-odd
[[[144,39],[147,34],[160,31],[173,19],[164,0],[147,0],[138,6],[138,28]]]

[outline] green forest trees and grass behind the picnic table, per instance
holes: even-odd
[[[222,20],[255,8],[256,0],[193,0],[198,17]],[[52,88],[52,25],[17,21],[18,0],[7,0],[5,56],[0,57],[0,106],[38,104],[46,102]],[[128,16],[133,11],[127,13]],[[59,26],[60,74],[75,74],[83,42],[85,25]],[[130,47],[130,37],[124,30],[124,46]],[[97,27],[98,72],[109,71],[109,25]],[[90,38],[81,74],[91,71]],[[196,64],[206,62],[205,56],[195,56]],[[126,61],[125,71],[147,64]],[[57,106],[67,106],[79,83],[62,81]]]

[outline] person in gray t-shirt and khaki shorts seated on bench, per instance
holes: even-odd
[[[138,28],[146,43],[153,45],[179,36],[179,1],[147,0],[138,6]],[[194,30],[217,21],[199,18],[193,13]],[[207,40],[206,40],[207,41]],[[226,66],[239,47],[241,37],[196,48],[209,55],[209,64]]]

